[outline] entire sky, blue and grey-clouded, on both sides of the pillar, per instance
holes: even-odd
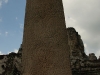
[[[22,42],[25,0],[0,0],[0,53],[17,51]],[[66,27],[81,35],[86,54],[100,55],[100,0],[63,0]]]

